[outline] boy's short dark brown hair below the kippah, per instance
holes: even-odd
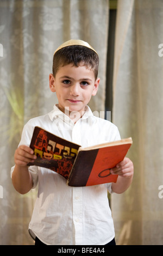
[[[93,70],[95,80],[97,79],[99,58],[95,51],[82,45],[71,45],[61,48],[53,56],[53,76],[55,77],[61,66],[71,63],[74,66],[79,66],[83,63],[86,68]]]

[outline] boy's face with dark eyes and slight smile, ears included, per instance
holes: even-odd
[[[80,117],[91,96],[96,95],[98,85],[99,78],[95,81],[93,70],[82,65],[62,66],[55,78],[52,74],[49,75],[49,87],[57,94],[59,109],[62,112],[65,112],[65,108],[70,112],[79,112]]]

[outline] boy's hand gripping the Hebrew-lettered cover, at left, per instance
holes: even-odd
[[[34,154],[34,151],[27,147],[26,145],[20,145],[15,150],[14,160],[18,166],[24,167],[27,166],[29,162],[34,162],[37,158]]]

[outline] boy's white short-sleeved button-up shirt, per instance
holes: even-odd
[[[90,108],[76,124],[57,105],[53,111],[30,119],[20,144],[30,145],[35,126],[82,147],[120,139],[117,127],[97,118]],[[11,173],[14,167],[11,169]],[[39,189],[29,231],[47,245],[105,245],[114,236],[108,202],[111,184],[70,187],[66,179],[50,169],[30,166],[34,187]]]

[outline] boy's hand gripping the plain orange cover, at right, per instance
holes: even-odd
[[[133,162],[125,157],[124,160],[116,165],[115,168],[110,169],[111,174],[118,174],[123,178],[132,178],[134,175]]]

